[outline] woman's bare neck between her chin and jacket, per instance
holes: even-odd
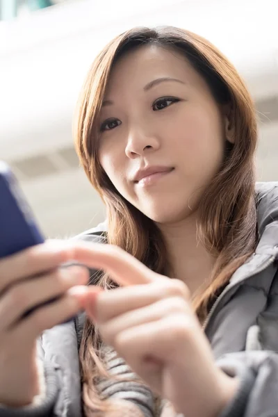
[[[171,277],[184,281],[191,295],[195,295],[209,282],[215,264],[215,257],[197,240],[196,215],[158,227],[165,238]]]

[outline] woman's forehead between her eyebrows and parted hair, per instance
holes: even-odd
[[[171,76],[185,83],[198,77],[179,51],[156,44],[144,45],[124,54],[113,66],[106,88],[106,97],[123,93],[123,89],[142,90],[153,79]]]

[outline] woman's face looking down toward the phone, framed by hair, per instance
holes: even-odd
[[[130,51],[115,63],[101,108],[101,166],[147,217],[184,220],[220,169],[223,113],[179,52],[154,44]]]

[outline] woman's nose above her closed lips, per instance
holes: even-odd
[[[134,159],[159,149],[160,141],[156,136],[147,135],[144,131],[136,129],[129,132],[126,143],[126,156]]]

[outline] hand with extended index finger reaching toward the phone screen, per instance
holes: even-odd
[[[82,243],[75,259],[106,270],[122,286],[88,292],[85,308],[104,342],[176,412],[218,416],[238,381],[215,366],[186,285],[113,246]]]

